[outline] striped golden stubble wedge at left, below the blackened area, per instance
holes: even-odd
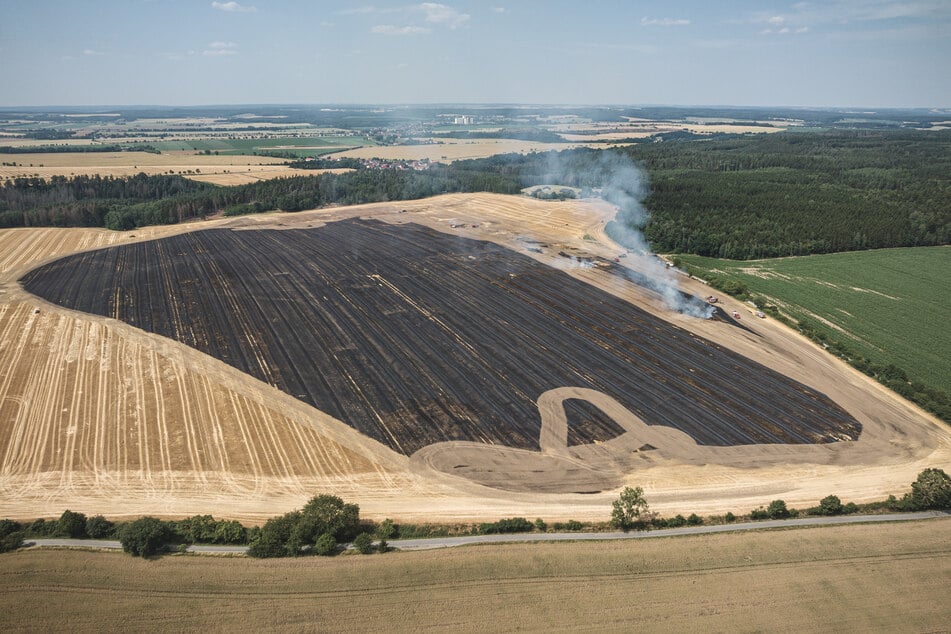
[[[108,326],[30,303],[0,303],[0,368],[5,491],[42,487],[47,499],[68,498],[92,481],[146,496],[227,495],[247,490],[252,476],[263,494],[378,468]]]

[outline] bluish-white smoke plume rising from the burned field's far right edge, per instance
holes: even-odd
[[[549,157],[548,182],[591,188],[617,209],[605,229],[612,240],[641,256],[641,272],[624,269],[633,283],[660,295],[671,310],[703,319],[713,315],[713,307],[680,290],[674,270],[655,257],[647,244],[642,229],[649,217],[643,204],[649,183],[642,168],[629,156],[607,150],[552,152]]]

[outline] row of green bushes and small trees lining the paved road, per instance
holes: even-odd
[[[951,509],[951,477],[937,468],[925,469],[911,484],[911,490],[901,498],[889,496],[881,503],[856,505],[842,504],[835,495],[823,498],[818,506],[802,511],[806,515],[846,515],[861,510],[924,511]],[[773,500],[766,507],[750,513],[751,519],[786,519],[800,512],[790,509],[783,500]],[[734,522],[733,513],[723,516],[723,521]],[[610,525],[621,530],[647,530],[685,525],[703,524],[704,519],[696,513],[689,517],[676,515],[661,518],[650,510],[650,505],[640,487],[626,487],[612,504]],[[431,528],[431,527],[430,527]],[[474,528],[474,531],[473,531]],[[549,528],[562,531],[578,531],[584,528],[581,522],[570,521],[551,526],[542,519],[530,522],[523,517],[512,517],[467,527],[463,533],[523,533],[545,532]],[[30,524],[13,520],[0,520],[0,552],[19,548],[25,537],[65,537],[116,539],[123,549],[133,555],[151,557],[168,547],[169,543],[191,544],[249,544],[252,557],[297,557],[306,554],[333,555],[339,552],[342,542],[353,542],[354,548],[364,554],[386,552],[388,540],[397,537],[448,534],[446,527],[440,530],[422,531],[421,527],[407,526],[405,530],[392,520],[379,523],[360,520],[360,508],[345,503],[334,495],[318,495],[311,498],[300,510],[269,519],[261,527],[246,528],[234,520],[215,520],[210,515],[196,515],[183,520],[164,521],[143,517],[132,522],[115,524],[101,515],[86,517],[82,513],[64,511],[57,520],[38,519]]]

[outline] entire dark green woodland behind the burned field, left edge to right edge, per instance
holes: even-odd
[[[298,211],[451,192],[515,194],[539,184],[592,195],[632,174],[623,169],[627,159],[649,177],[644,232],[655,251],[752,259],[951,240],[951,131],[906,130],[665,140],[234,187],[141,174],[19,178],[0,187],[0,227],[131,229],[219,211]],[[636,222],[624,214],[619,220]]]

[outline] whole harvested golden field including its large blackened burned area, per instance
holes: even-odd
[[[458,194],[0,232],[0,516],[260,521],[328,492],[597,520],[624,485],[746,512],[951,464],[947,426],[788,329],[667,309],[612,215]]]

